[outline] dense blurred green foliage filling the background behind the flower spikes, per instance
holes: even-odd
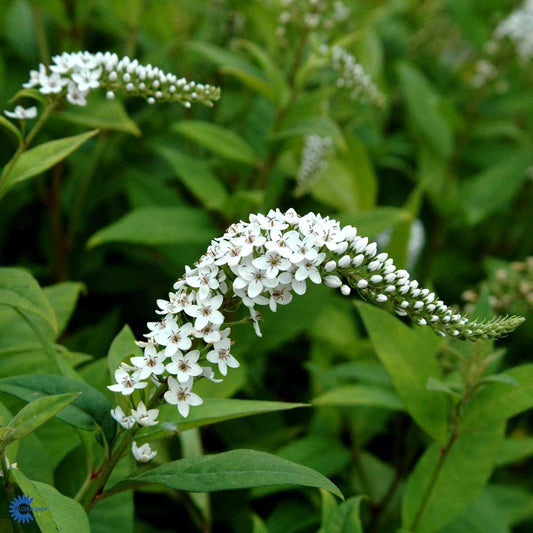
[[[30,69],[62,51],[111,50],[222,89],[212,108],[109,102],[96,94],[85,108],[65,106],[39,143],[88,128],[98,135],[0,202],[1,265],[27,269],[44,287],[59,332],[39,327],[110,401],[106,356],[121,330],[122,339],[128,335],[124,324],[140,338],[155,300],[166,297],[210,239],[269,208],[330,214],[357,226],[446,302],[468,302],[480,316],[530,313],[533,71],[508,42],[487,49],[494,28],[518,4],[345,3],[350,14],[333,28],[309,30],[297,20],[281,36],[282,8],[274,0],[2,0],[2,109],[12,108],[8,100]],[[386,97],[382,108],[336,87],[320,54],[324,42],[358,58]],[[483,61],[493,69],[484,78]],[[301,193],[296,176],[310,134],[331,138],[333,146],[327,168]],[[16,145],[8,129],[0,138],[3,165]],[[319,398],[316,404],[183,432],[176,413],[178,431],[154,443],[154,463],[264,450],[321,472],[346,498],[365,499],[337,508],[334,496],[316,489],[208,497],[153,487],[97,506],[94,531],[358,531],[355,520],[345,529],[332,525],[343,512],[355,516],[358,503],[365,531],[393,531],[402,516],[407,530],[425,490],[424,466],[410,474],[426,449],[426,462],[439,453],[417,409],[455,401],[458,352],[471,362],[495,350],[499,357],[483,370],[501,378],[521,365],[504,374],[525,387],[520,406],[491,419],[496,426],[459,438],[416,531],[531,530],[531,416],[512,418],[504,438],[500,422],[533,404],[527,322],[495,347],[398,329],[393,339],[405,361],[391,370],[379,339],[400,328],[398,320],[363,313],[363,323],[351,301],[325,287],[265,315],[262,339],[250,326],[236,328],[242,366],[219,386],[202,383],[202,394]],[[409,364],[416,366],[416,343],[439,363],[424,372],[442,381],[429,387],[438,390],[416,389],[411,407],[398,383]],[[0,307],[0,378],[51,371],[32,330]],[[506,379],[481,393],[508,394],[517,385]],[[0,399],[3,416],[23,405],[7,394]],[[73,496],[86,466],[79,439],[65,428],[48,422],[21,441],[17,460],[29,478]],[[122,475],[133,467],[128,461]]]

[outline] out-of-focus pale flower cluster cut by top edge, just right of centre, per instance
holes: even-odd
[[[309,30],[331,30],[350,16],[350,8],[339,0],[281,0],[277,33],[286,35],[290,24],[303,25]]]

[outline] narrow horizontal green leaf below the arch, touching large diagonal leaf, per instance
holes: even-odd
[[[320,406],[367,405],[403,411],[405,408],[398,395],[389,389],[372,385],[346,385],[321,394],[311,400]]]

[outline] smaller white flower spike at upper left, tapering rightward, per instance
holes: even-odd
[[[217,87],[178,78],[127,56],[119,59],[111,52],[64,52],[52,58],[50,67],[40,64],[32,70],[23,86],[36,87],[43,94],[66,94],[68,102],[78,106],[86,105],[89,92],[98,88],[106,90],[109,99],[123,91],[150,104],[180,102],[186,107],[196,102],[212,106],[220,97]]]

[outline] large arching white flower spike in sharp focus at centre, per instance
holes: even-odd
[[[226,376],[239,366],[231,354],[230,314],[244,304],[257,335],[261,336],[257,306],[287,305],[293,295],[306,292],[307,283],[338,288],[344,296],[359,293],[365,300],[387,306],[417,324],[430,326],[441,336],[476,340],[492,339],[514,330],[521,317],[495,318],[488,322],[469,320],[446,306],[435,293],[422,289],[406,270],[396,269],[377,245],[357,235],[352,226],[341,227],[329,217],[314,213],[299,216],[293,209],[266,216],[250,215],[249,222],[231,225],[214,239],[195,268],[174,284],[168,300],[158,300],[162,315],[149,322],[146,340],[137,344],[144,355],[132,357],[115,372],[116,384],[109,389],[125,396],[144,389],[151,380],[164,392],[167,403],[187,416],[190,406],[202,399],[192,392],[195,379],[213,381],[215,371]],[[158,389],[159,390],[159,389]],[[157,409],[140,402],[126,415],[120,407],[113,417],[125,428],[157,424]],[[149,460],[134,450],[138,460]]]

